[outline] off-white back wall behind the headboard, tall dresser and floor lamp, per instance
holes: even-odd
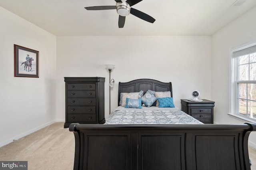
[[[118,82],[149,78],[172,82],[174,105],[192,98],[198,90],[211,99],[210,36],[64,36],[57,37],[56,117],[65,119],[63,77],[106,77],[105,118],[109,116],[109,72],[111,110],[117,107]]]

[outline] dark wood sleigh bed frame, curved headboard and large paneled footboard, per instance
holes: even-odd
[[[119,83],[120,93],[171,91],[152,79]],[[250,170],[248,136],[256,124],[79,125],[74,170]]]

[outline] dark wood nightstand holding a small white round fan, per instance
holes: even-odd
[[[213,124],[213,107],[215,102],[206,99],[202,100],[202,102],[198,102],[181,99],[181,110],[202,123]]]

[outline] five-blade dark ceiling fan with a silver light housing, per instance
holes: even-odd
[[[131,8],[131,6],[139,3],[142,0],[126,0],[124,2],[122,2],[122,0],[115,0],[115,1],[116,1],[116,6],[89,6],[89,7],[85,7],[85,9],[86,10],[116,10],[116,12],[119,14],[119,19],[118,19],[119,28],[124,27],[125,17],[128,16],[129,14],[132,14],[147,22],[151,22],[151,23],[155,22],[155,19],[149,16],[148,14],[145,14],[144,12]]]

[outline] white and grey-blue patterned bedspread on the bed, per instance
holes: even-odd
[[[203,124],[178,108],[142,107],[126,109],[122,106],[111,113],[105,124]]]

